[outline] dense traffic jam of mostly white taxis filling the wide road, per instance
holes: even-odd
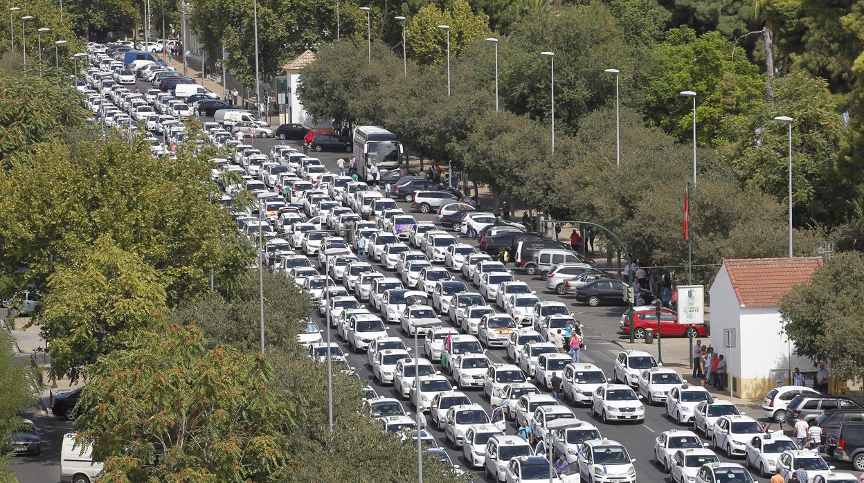
[[[610,344],[578,361],[564,352],[556,334],[580,324],[571,305],[624,305],[626,293],[619,276],[569,245],[476,209],[458,190],[422,176],[382,171],[391,180],[388,197],[314,156],[350,152],[350,140],[302,124],[270,130],[231,106],[213,110],[218,99],[208,92],[178,98],[178,86],[189,83],[180,73],[157,63],[127,66],[110,52],[90,48],[93,67],[79,86],[86,107],[107,127],[135,130],[140,122],[161,134],[162,143],[148,137],[154,156],[172,156],[165,146],[182,142],[186,119],[215,114],[200,124],[207,142],[230,153],[213,159],[223,206],[230,209],[243,190],[257,198],[231,214],[257,246],[259,263],[316,301],[316,314],[297,336],[302,350],[314,364],[330,359],[334,371],[369,379],[360,407],[383,431],[406,444],[420,439],[454,471],[487,481],[551,475],[567,483],[629,483],[668,475],[677,483],[743,483],[778,470],[791,481],[801,464],[811,481],[857,481],[757,415],[688,384],[649,352]],[[154,88],[130,92],[129,72]],[[264,137],[302,141],[315,153],[288,143],[253,144]],[[499,260],[503,251],[512,269]],[[528,283],[535,280],[549,291],[538,293]],[[651,302],[651,295],[641,300]],[[677,323],[668,308],[659,322],[650,305],[637,304],[630,315],[621,316],[619,330],[637,340],[658,327],[664,337],[707,334],[704,326]],[[590,345],[589,328],[582,326]],[[553,378],[560,378],[557,396]],[[56,395],[54,415],[73,420],[79,392]],[[810,395],[821,396],[797,386],[772,390],[764,416],[785,421],[796,414],[789,408]],[[833,414],[823,413],[810,416]],[[837,423],[825,438],[828,454],[864,470],[864,452],[846,443],[854,438],[850,431],[844,440],[843,428]],[[11,444],[38,451],[25,429]],[[645,453],[653,454],[650,462],[633,457]]]

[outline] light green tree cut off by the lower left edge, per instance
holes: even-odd
[[[32,404],[36,394],[33,374],[23,362],[14,360],[12,340],[0,334],[0,441],[9,441],[9,436],[21,423],[21,411]],[[9,455],[0,455],[0,481],[16,481],[9,469]]]

